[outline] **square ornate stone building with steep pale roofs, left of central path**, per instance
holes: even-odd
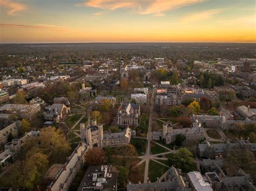
[[[139,126],[140,106],[137,104],[123,104],[118,112],[117,124],[121,127]]]

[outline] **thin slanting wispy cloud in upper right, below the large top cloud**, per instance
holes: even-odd
[[[213,17],[214,15],[217,15],[222,11],[223,11],[222,9],[211,9],[207,11],[195,12],[195,13],[192,13],[191,15],[181,18],[181,22],[190,23],[194,21],[205,20],[207,18]]]

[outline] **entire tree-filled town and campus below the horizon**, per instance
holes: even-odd
[[[256,52],[0,45],[0,190],[256,190]]]

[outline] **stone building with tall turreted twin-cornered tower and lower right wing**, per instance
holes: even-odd
[[[84,124],[80,124],[81,139],[85,140],[89,148],[107,146],[118,147],[129,145],[131,140],[132,131],[129,127],[126,127],[124,132],[119,133],[103,133],[103,124],[98,124],[96,120],[92,120],[90,126],[85,127]]]

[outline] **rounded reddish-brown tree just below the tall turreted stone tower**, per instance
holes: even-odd
[[[102,148],[93,147],[86,152],[84,159],[85,163],[89,166],[104,165],[106,161],[106,153]]]

